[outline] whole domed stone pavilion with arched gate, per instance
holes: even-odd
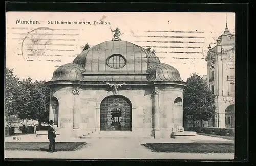
[[[95,45],[57,68],[46,84],[50,120],[62,136],[108,132],[160,138],[183,130],[186,84],[179,71],[131,42]]]

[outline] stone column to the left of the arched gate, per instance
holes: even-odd
[[[80,104],[79,101],[79,94],[80,90],[72,90],[74,95],[74,107],[73,107],[73,130],[79,130],[79,119],[80,119]]]

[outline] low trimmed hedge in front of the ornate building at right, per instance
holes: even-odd
[[[218,128],[218,127],[191,127],[189,131],[196,131],[197,133],[221,135],[221,136],[234,136],[234,128]]]

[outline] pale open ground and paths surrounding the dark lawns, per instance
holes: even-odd
[[[48,142],[46,137],[32,137],[25,135],[21,142],[34,141]],[[56,159],[233,159],[234,154],[197,154],[197,153],[156,153],[142,146],[143,143],[230,143],[232,141],[197,135],[191,139],[139,139],[139,138],[94,138],[94,139],[64,139],[57,138],[58,142],[87,142],[87,147],[73,152],[42,152],[5,150],[5,158],[56,158]],[[6,142],[14,142],[12,137]]]

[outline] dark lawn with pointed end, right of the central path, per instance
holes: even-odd
[[[234,153],[231,143],[147,143],[142,144],[154,152],[178,153]]]

